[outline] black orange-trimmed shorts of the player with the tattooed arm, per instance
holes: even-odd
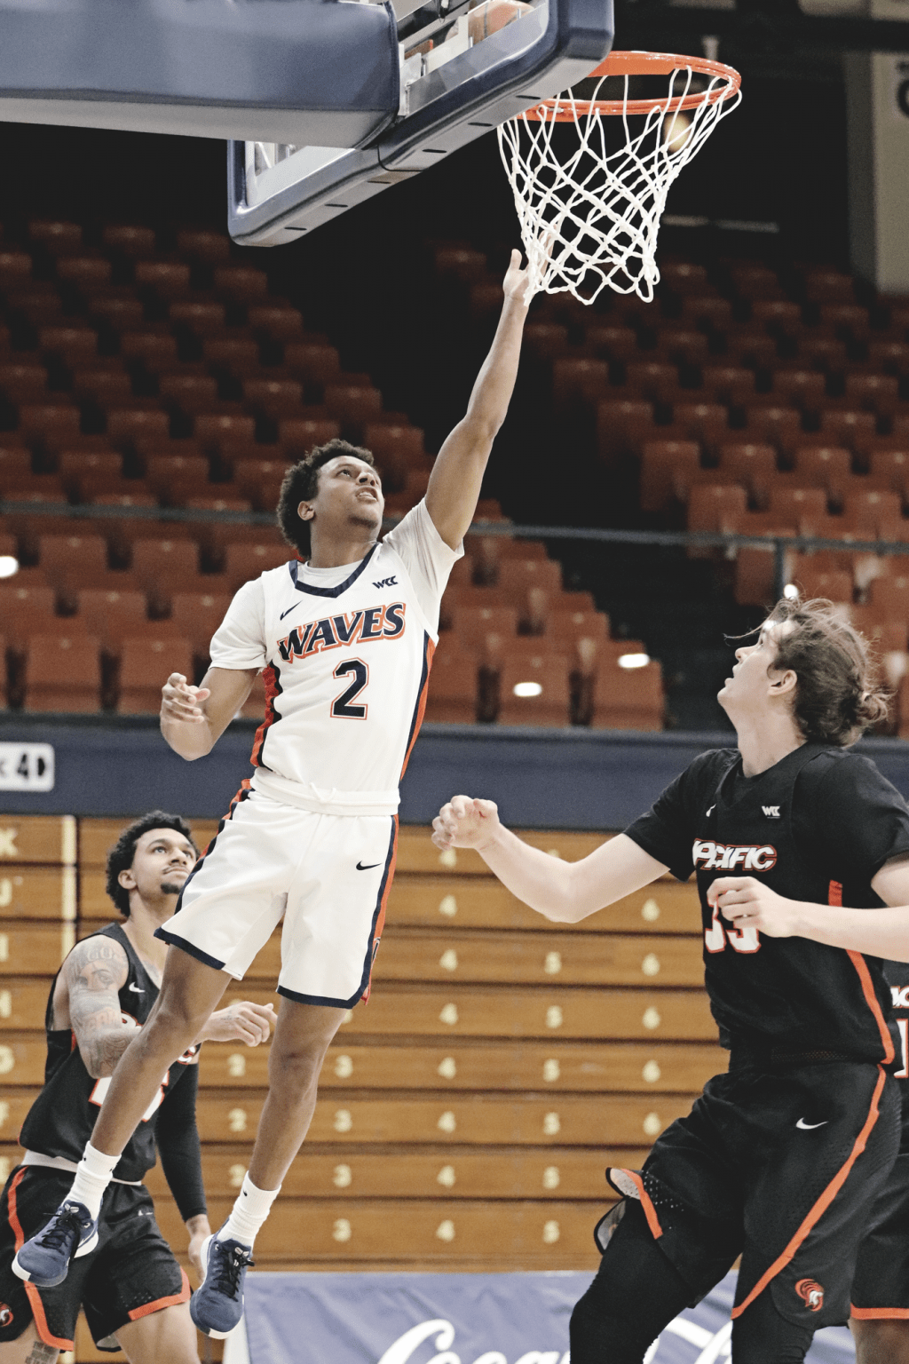
[[[40,1289],[14,1274],[16,1251],[53,1217],[71,1185],[67,1170],[20,1165],[0,1195],[0,1342],[18,1339],[34,1319],[45,1345],[71,1350],[79,1308],[99,1344],[128,1322],[189,1301],[189,1281],[158,1230],[143,1185],[108,1188],[98,1247],[72,1260],[63,1284]]]

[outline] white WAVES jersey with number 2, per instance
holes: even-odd
[[[429,521],[425,507],[420,512]],[[458,558],[443,548],[439,599]],[[263,655],[266,662],[252,786],[326,814],[394,814],[425,708],[437,615],[424,614],[392,543],[376,544],[337,587],[315,587],[301,570],[292,561],[247,585],[262,591],[259,662]],[[224,662],[236,653],[233,610],[213,640],[215,666],[243,666]]]

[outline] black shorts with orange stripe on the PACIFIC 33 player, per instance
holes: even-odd
[[[846,1322],[899,1108],[897,1083],[874,1064],[745,1064],[711,1079],[628,1176],[692,1303],[740,1254],[733,1318],[770,1292],[795,1326]]]

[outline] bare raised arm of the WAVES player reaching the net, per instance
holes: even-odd
[[[492,442],[506,419],[518,376],[521,338],[527,316],[523,301],[527,271],[521,252],[511,252],[503,284],[506,301],[489,355],[477,375],[463,419],[439,450],[427,491],[427,510],[442,539],[452,550],[473,521]]]

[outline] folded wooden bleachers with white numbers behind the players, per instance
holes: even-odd
[[[49,981],[112,918],[123,820],[0,817],[0,1172],[44,1072]],[[213,821],[194,821],[203,846]],[[597,835],[523,835],[575,859]],[[279,938],[226,998],[274,1000]],[[213,1225],[247,1169],[267,1048],[207,1043],[199,1129]],[[403,828],[368,1005],[331,1046],[309,1139],[256,1241],[266,1270],[593,1269],[608,1163],[725,1068],[702,988],[694,885],[662,880],[578,928],[510,895],[469,851]],[[165,1234],[185,1232],[157,1166]],[[80,1329],[75,1359],[102,1360]]]

